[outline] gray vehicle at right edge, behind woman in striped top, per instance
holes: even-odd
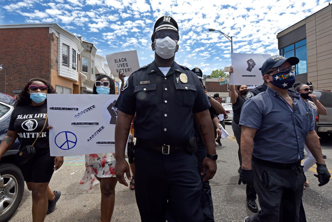
[[[326,108],[327,115],[316,116],[317,134],[322,139],[332,138],[332,92],[331,90],[314,90],[318,101]]]

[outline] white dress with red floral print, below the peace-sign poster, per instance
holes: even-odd
[[[85,173],[80,181],[82,189],[89,192],[103,177],[115,177],[115,154],[114,153],[98,153],[85,155]]]

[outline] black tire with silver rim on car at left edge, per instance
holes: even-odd
[[[21,203],[24,192],[24,178],[20,168],[11,163],[0,163],[0,203],[4,208],[0,212],[0,221],[8,221]],[[12,197],[9,202],[5,197]]]

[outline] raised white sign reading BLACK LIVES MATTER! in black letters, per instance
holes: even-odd
[[[119,72],[124,73],[125,76],[130,76],[131,73],[139,69],[136,50],[108,54],[106,60],[113,76],[116,77],[119,77]]]

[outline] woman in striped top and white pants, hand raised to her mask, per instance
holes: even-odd
[[[303,83],[297,82],[293,85],[294,89],[296,92],[298,92],[303,100],[306,100],[309,108],[311,110],[311,117],[313,118],[313,122],[316,123],[316,116],[317,112],[319,115],[327,115],[327,110],[326,108],[317,100],[317,96],[312,93],[310,90],[310,87],[308,85],[305,85]],[[308,99],[312,100],[312,102]],[[311,152],[309,151],[308,147],[304,145],[304,149],[308,154],[308,157],[304,160],[302,166],[303,166],[303,171],[307,172],[307,170],[312,167],[315,163],[316,160],[312,156]],[[305,186],[310,185],[309,181],[305,181],[304,183]],[[305,189],[304,186],[304,189]]]

